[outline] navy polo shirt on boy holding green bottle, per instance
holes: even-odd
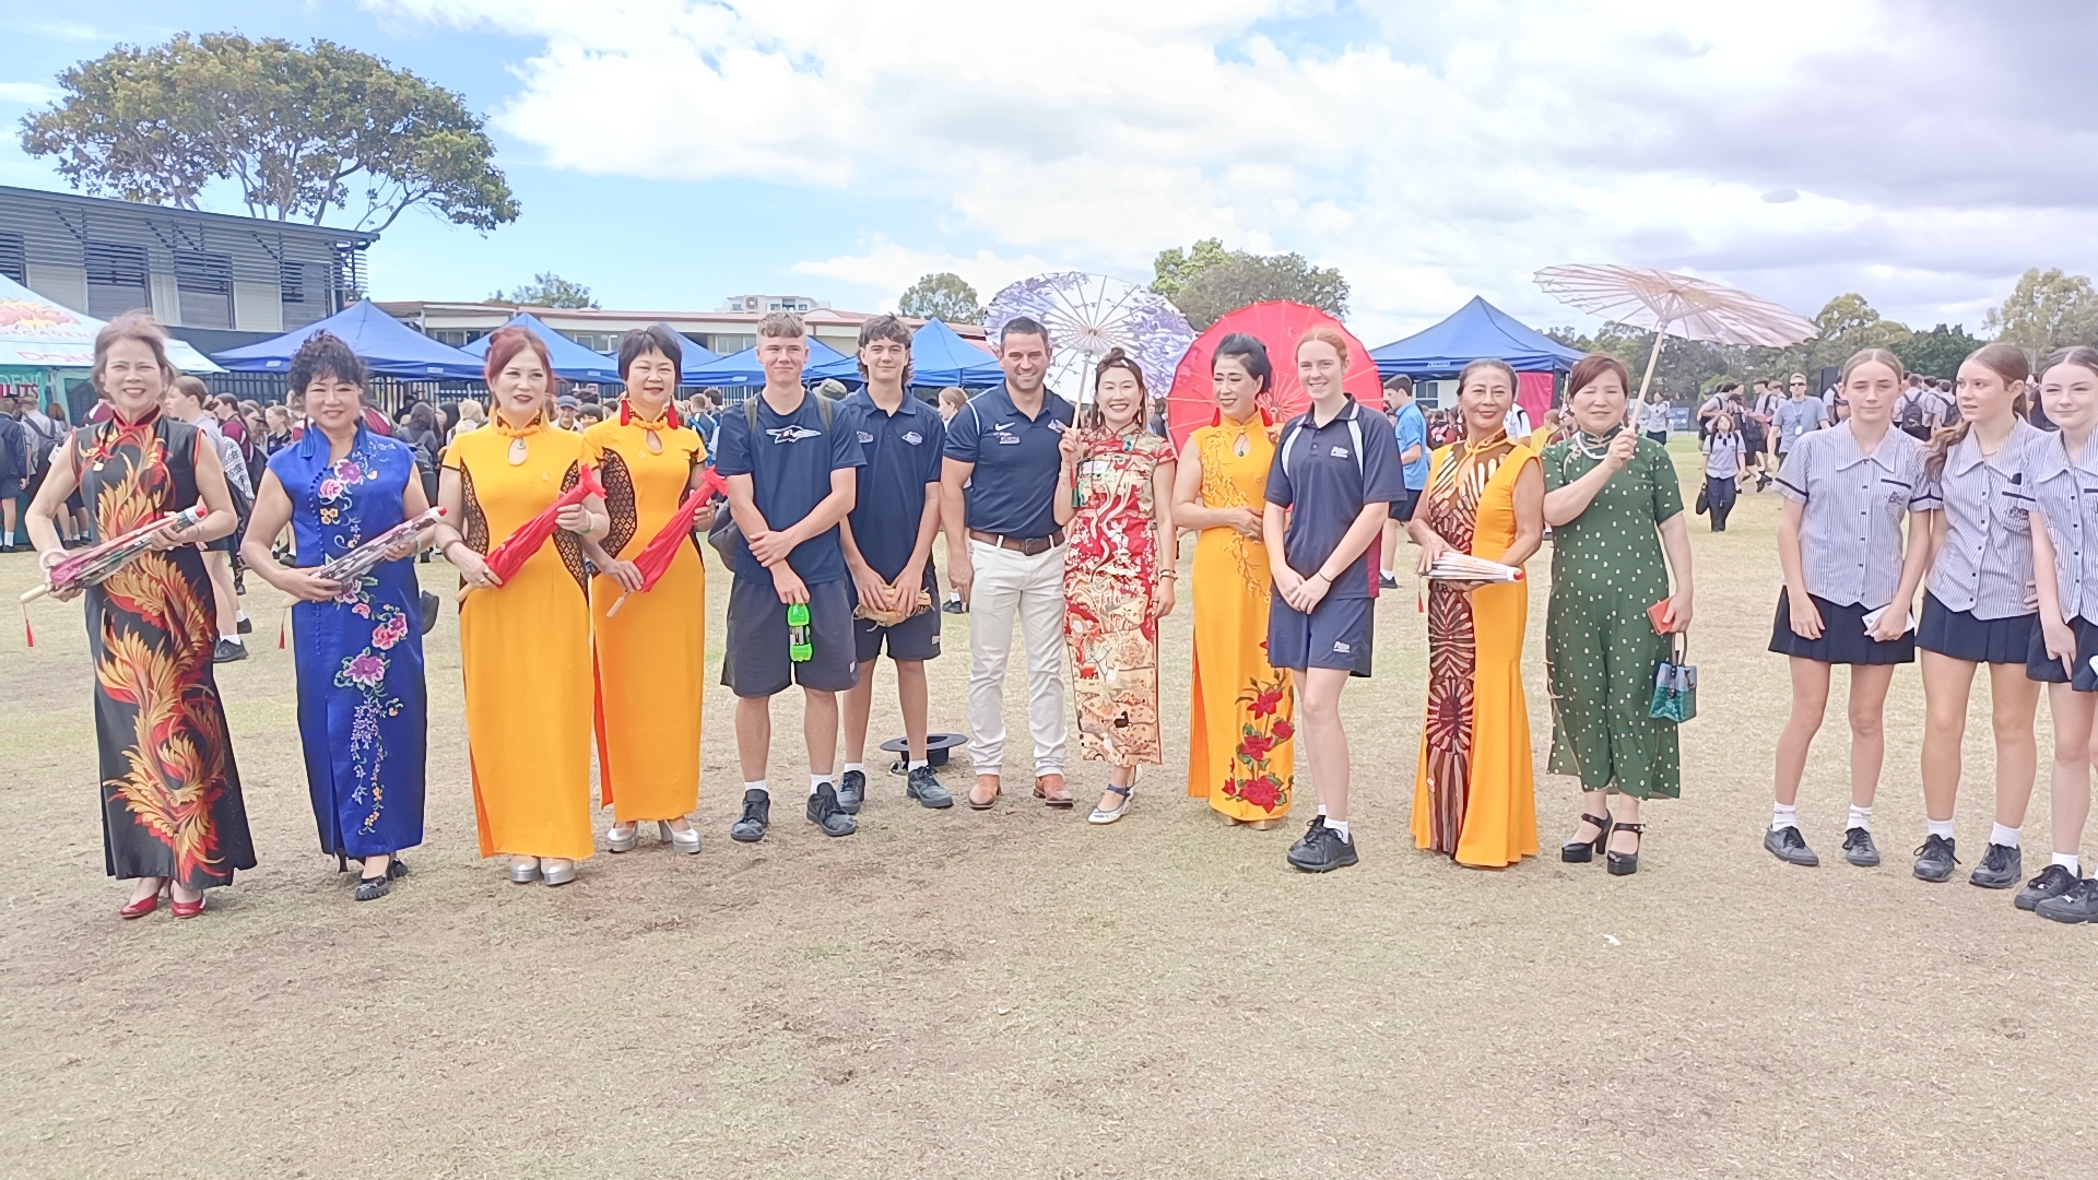
[[[764,395],[751,397],[757,399],[757,437],[751,437],[745,407],[724,409],[713,466],[724,477],[751,477],[751,498],[764,512],[766,525],[787,529],[831,496],[833,470],[866,462],[860,451],[858,416],[837,405],[831,412],[831,428],[825,430],[816,393],[804,393],[801,407],[785,416],[774,414]],[[795,546],[787,554],[787,565],[810,586],[845,577],[845,550],[837,542],[837,527]],[[749,548],[736,559],[736,577],[770,580]]]

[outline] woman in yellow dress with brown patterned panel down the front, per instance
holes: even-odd
[[[1435,451],[1420,510],[1420,573],[1448,550],[1523,565],[1544,542],[1544,470],[1508,439],[1515,370],[1458,378],[1464,435]],[[1414,844],[1498,869],[1538,852],[1536,771],[1523,701],[1529,584],[1429,584],[1429,708],[1414,773]]]

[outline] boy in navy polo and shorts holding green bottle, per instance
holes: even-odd
[[[757,361],[766,388],[722,416],[715,470],[728,479],[728,510],[743,531],[736,582],[728,596],[722,684],[736,695],[736,756],[743,760],[743,817],[728,836],[764,840],[772,823],[766,754],[772,747],[772,697],[801,684],[801,733],[808,741],[808,819],[825,836],[852,836],[858,823],[837,806],[837,693],[858,680],[852,659],[852,594],[837,523],[858,489],[858,424],[850,409],[801,388],[808,363],[801,317],[776,311],[757,321]],[[751,420],[755,418],[755,428]],[[787,607],[808,605],[812,655],[795,661]]]

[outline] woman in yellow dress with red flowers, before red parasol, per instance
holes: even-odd
[[[1263,829],[1290,813],[1297,789],[1297,691],[1288,670],[1267,663],[1271,575],[1261,508],[1276,439],[1259,397],[1271,378],[1257,338],[1232,334],[1217,344],[1217,424],[1187,437],[1173,485],[1173,523],[1200,533],[1187,794],[1232,823]]]

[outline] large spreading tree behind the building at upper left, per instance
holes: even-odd
[[[459,94],[327,40],[176,34],[82,61],[59,86],[23,118],[21,147],[94,195],[201,208],[212,181],[233,181],[250,216],[319,225],[355,202],[371,231],[418,206],[480,231],[518,216]]]

